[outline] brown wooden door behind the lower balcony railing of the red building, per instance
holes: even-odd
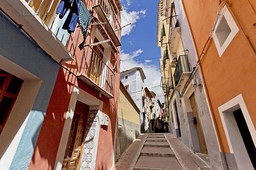
[[[96,38],[94,43],[99,42]],[[97,85],[100,84],[100,77],[103,65],[103,53],[104,47],[102,45],[93,46],[92,55],[90,59],[90,65],[88,69],[88,77],[92,79]]]

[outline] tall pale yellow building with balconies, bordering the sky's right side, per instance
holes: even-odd
[[[175,85],[178,84],[174,79],[175,74],[176,76],[178,74],[176,64],[179,58],[181,61],[185,60],[186,51],[183,48],[179,22],[174,10],[174,3],[171,0],[160,0],[158,3],[157,46],[161,49],[159,63],[167,119],[173,121],[172,114],[169,113],[169,103],[174,93],[177,92],[174,90]],[[182,63],[184,64],[184,62]],[[179,90],[180,86],[184,85],[179,84],[176,89]]]

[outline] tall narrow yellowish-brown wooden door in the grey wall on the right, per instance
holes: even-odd
[[[190,96],[189,99],[190,99],[190,103],[191,103],[191,107],[192,107],[194,117],[196,117],[196,119],[197,119],[197,124],[195,126],[196,126],[196,129],[197,129],[197,135],[198,135],[198,140],[199,140],[201,153],[208,154],[207,149],[206,149],[205,140],[204,140],[204,134],[203,134],[202,126],[201,126],[200,119],[199,119],[198,112],[197,112],[195,94],[193,93]]]

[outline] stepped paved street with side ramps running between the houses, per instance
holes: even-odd
[[[141,134],[125,150],[113,169],[201,170],[200,167],[208,166],[179,139],[170,133],[155,133]]]

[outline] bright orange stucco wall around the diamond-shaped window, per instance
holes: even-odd
[[[201,69],[209,94],[208,100],[212,105],[220,133],[219,138],[226,153],[229,153],[229,148],[218,107],[242,94],[253,125],[256,126],[256,55],[242,31],[243,28],[255,49],[256,2],[233,0],[231,3],[234,13],[229,7],[228,10],[236,21],[239,32],[221,57],[219,57],[215,42],[212,39],[207,52],[201,59]],[[201,54],[214,25],[219,1],[183,0],[183,4],[198,53]]]

